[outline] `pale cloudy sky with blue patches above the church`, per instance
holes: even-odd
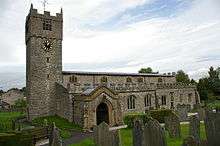
[[[25,72],[25,17],[41,0],[0,1],[0,73]],[[64,12],[64,70],[137,72],[198,79],[220,63],[220,0],[48,0]],[[15,66],[19,66],[15,68]]]

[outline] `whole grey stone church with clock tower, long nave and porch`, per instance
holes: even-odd
[[[31,5],[25,28],[29,120],[59,115],[90,129],[121,125],[128,113],[200,102],[196,87],[173,75],[62,71],[62,10],[52,16]]]

